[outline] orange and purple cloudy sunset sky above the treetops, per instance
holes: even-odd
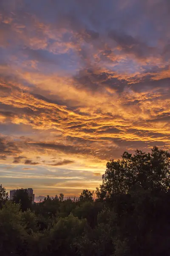
[[[78,196],[170,150],[169,0],[0,1],[0,183]]]

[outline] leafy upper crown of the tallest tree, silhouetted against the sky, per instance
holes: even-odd
[[[170,188],[170,153],[153,147],[151,153],[136,150],[124,152],[122,160],[110,160],[102,175],[99,198],[127,194],[135,187],[152,191],[168,191]]]

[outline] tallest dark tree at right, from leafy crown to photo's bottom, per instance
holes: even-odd
[[[124,152],[111,160],[97,190],[115,212],[114,256],[169,255],[170,154]]]

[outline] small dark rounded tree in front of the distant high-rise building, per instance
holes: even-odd
[[[32,200],[29,198],[27,189],[17,189],[14,192],[13,202],[20,204],[23,212],[32,207]]]

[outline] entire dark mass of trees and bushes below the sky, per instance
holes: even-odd
[[[0,186],[0,255],[169,256],[170,154],[125,152],[106,167],[95,197],[30,204],[21,189],[10,202]]]

